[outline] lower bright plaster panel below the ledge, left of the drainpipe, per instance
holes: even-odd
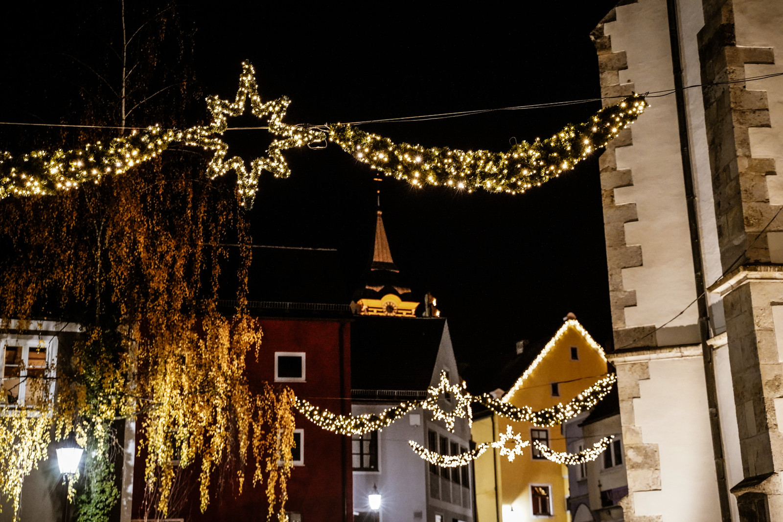
[[[661,489],[634,493],[636,514],[662,515],[664,522],[720,520],[702,358],[653,359],[649,369],[633,412],[644,443],[658,445]]]

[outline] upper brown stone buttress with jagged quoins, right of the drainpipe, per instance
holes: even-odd
[[[705,26],[698,41],[704,84],[737,81],[745,77],[746,63],[774,63],[770,47],[736,45],[731,0],[704,0],[703,5]],[[749,244],[780,208],[770,204],[767,189],[774,160],[754,158],[750,150],[749,128],[770,126],[767,93],[743,81],[707,85],[702,92],[723,270],[741,256],[742,264],[768,263],[766,233],[781,225],[773,223]]]

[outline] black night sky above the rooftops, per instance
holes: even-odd
[[[0,121],[81,123],[69,102],[89,87],[63,73],[82,67],[68,55],[91,63],[99,36],[117,33],[120,5],[110,0],[96,11],[79,3],[53,11],[4,6]],[[590,31],[615,2],[476,2],[470,9],[423,2],[183,3],[169,16],[192,34],[188,95],[233,99],[247,59],[264,99],[292,99],[288,123],[323,124],[597,97]],[[132,11],[134,3],[126,7]],[[598,108],[593,102],[362,128],[398,142],[500,152],[514,139],[546,138]],[[136,117],[138,124],[156,123]],[[178,126],[205,117],[204,106]],[[262,123],[229,121],[229,127],[248,124]],[[231,132],[226,141],[246,161],[270,141],[265,131]],[[20,147],[32,142],[60,145],[51,129],[0,125],[0,149],[23,153],[28,149]],[[298,259],[285,261],[285,270],[279,251],[254,249],[251,298],[347,303],[372,248],[374,172],[334,144],[285,155],[291,177],[262,178],[251,211],[254,243],[337,252],[289,253]],[[513,353],[517,340],[546,340],[568,311],[611,346],[597,156],[518,196],[413,189],[391,178],[381,185],[395,263],[417,300],[426,291],[438,298],[467,375],[477,362]],[[336,290],[301,283],[314,277],[329,278]],[[280,295],[281,279],[288,299]]]

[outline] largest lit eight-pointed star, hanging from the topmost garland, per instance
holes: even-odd
[[[221,139],[211,135],[222,135],[228,128],[228,117],[241,116],[244,113],[245,100],[250,99],[251,113],[255,117],[268,117],[269,132],[277,135],[266,150],[266,157],[257,157],[251,161],[250,172],[245,167],[244,160],[239,156],[226,159],[228,146]],[[314,128],[299,127],[283,123],[283,117],[290,105],[290,99],[283,96],[278,99],[263,103],[258,95],[258,85],[255,81],[255,70],[250,63],[242,63],[240,86],[236,91],[236,99],[233,103],[218,96],[207,98],[207,108],[212,114],[212,122],[207,127],[194,127],[186,132],[185,141],[188,144],[204,146],[205,149],[214,149],[215,156],[207,167],[207,173],[214,179],[228,171],[236,171],[236,183],[238,185],[243,204],[248,207],[253,205],[255,193],[258,190],[258,178],[261,171],[269,171],[276,178],[287,178],[290,169],[283,158],[283,149],[292,149],[305,145],[323,142],[327,135],[323,131]]]

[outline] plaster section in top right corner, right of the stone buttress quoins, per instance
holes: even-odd
[[[749,63],[745,77],[783,72],[783,2],[774,0],[734,0],[734,27],[737,45],[773,47],[774,65]],[[772,77],[749,81],[749,90],[767,91],[770,103],[770,128],[750,128],[750,150],[753,157],[774,158],[778,175],[767,176],[770,203],[783,204],[783,79]],[[776,227],[777,228],[777,227]]]

